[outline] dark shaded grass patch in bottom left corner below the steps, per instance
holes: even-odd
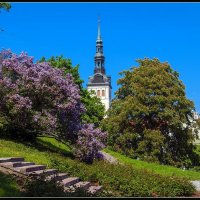
[[[0,197],[20,196],[22,196],[22,193],[13,177],[0,172]]]

